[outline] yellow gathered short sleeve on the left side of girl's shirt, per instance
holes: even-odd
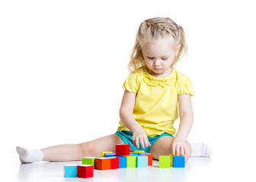
[[[126,89],[130,93],[138,93],[141,80],[139,73],[130,73],[123,83],[123,89]]]

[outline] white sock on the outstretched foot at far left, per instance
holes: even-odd
[[[43,152],[40,149],[27,149],[24,146],[16,146],[22,163],[40,162],[43,160]]]

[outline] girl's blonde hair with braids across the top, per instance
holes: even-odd
[[[136,71],[139,67],[146,66],[142,55],[142,44],[150,39],[172,36],[177,45],[181,45],[178,55],[172,65],[176,64],[184,55],[187,55],[187,43],[184,30],[169,17],[154,17],[145,20],[139,26],[136,34],[136,42],[128,64],[130,71]]]

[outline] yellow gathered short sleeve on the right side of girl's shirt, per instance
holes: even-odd
[[[184,74],[179,73],[178,74],[178,80],[177,80],[177,93],[178,95],[181,94],[190,94],[190,96],[194,96],[194,87],[192,82],[188,77],[186,77]]]

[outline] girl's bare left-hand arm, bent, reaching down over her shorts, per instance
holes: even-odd
[[[133,108],[135,105],[136,93],[130,93],[127,90],[123,93],[123,100],[120,106],[120,119],[124,126],[133,132],[133,144],[139,149],[139,142],[144,149],[151,146],[142,126],[133,118]],[[145,144],[145,146],[144,146]]]

